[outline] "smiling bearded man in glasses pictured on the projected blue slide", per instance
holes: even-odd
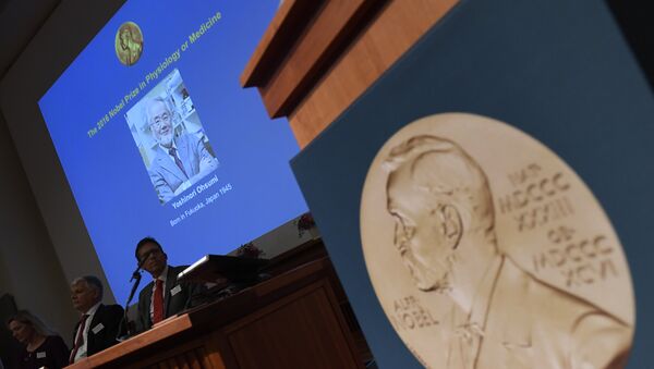
[[[162,98],[146,102],[145,116],[159,144],[149,175],[159,200],[166,204],[214,171],[218,160],[207,150],[202,138],[191,134],[174,136],[172,112]]]

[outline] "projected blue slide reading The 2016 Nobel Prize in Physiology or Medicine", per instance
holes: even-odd
[[[279,1],[128,1],[39,100],[120,303],[149,235],[171,265],[306,211],[299,148],[239,76]]]

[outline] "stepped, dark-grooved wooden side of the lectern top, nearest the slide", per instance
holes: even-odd
[[[270,116],[288,114],[388,0],[286,1],[241,75]]]

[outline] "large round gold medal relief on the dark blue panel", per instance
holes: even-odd
[[[428,368],[623,368],[629,268],[574,171],[525,133],[447,113],[396,133],[361,201],[371,281]]]

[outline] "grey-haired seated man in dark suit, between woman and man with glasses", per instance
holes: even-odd
[[[73,335],[71,364],[118,343],[116,336],[123,308],[102,305],[102,282],[93,275],[77,278],[71,283],[73,307],[82,313]]]

